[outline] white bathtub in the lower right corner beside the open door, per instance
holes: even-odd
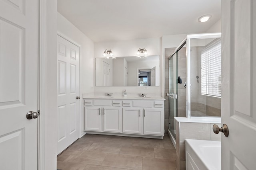
[[[221,142],[185,140],[186,170],[221,170]]]

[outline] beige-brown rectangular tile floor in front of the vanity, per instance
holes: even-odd
[[[176,150],[164,139],[86,134],[57,157],[62,170],[176,170]]]

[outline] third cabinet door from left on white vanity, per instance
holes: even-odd
[[[141,109],[123,108],[123,133],[141,134]]]

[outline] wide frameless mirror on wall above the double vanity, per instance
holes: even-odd
[[[95,59],[96,86],[160,86],[160,56]]]

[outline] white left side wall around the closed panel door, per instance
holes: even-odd
[[[61,14],[57,14],[57,29],[58,34],[62,35],[69,41],[80,46],[80,96],[83,93],[93,92],[94,86],[94,43],[70,21],[64,18]],[[57,61],[57,59],[56,59]],[[57,65],[56,65],[57,66]],[[56,105],[57,106],[57,105]],[[83,105],[80,100],[80,136],[84,134],[82,117]]]

